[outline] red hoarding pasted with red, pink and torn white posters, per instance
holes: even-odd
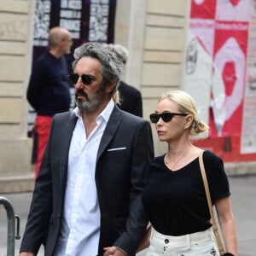
[[[183,89],[210,126],[195,144],[224,161],[256,159],[255,12],[255,0],[191,0]]]

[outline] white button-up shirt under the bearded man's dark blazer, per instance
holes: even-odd
[[[86,137],[79,108],[73,110],[79,119],[69,148],[66,195],[56,256],[97,255],[101,214],[95,182],[96,154],[113,106],[111,100],[98,115],[96,128],[89,137]]]

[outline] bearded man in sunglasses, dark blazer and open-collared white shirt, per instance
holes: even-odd
[[[148,121],[120,110],[123,64],[101,44],[74,51],[77,108],[57,113],[20,256],[135,256],[147,226],[141,195],[154,156]]]

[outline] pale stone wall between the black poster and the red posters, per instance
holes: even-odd
[[[118,3],[115,43],[129,50],[125,81],[142,91],[143,117],[148,119],[164,91],[180,88],[189,1]],[[159,143],[156,133],[154,146],[156,155],[166,150],[166,143]]]

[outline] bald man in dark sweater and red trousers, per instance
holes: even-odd
[[[67,29],[54,27],[49,31],[49,50],[33,63],[26,91],[27,101],[37,112],[33,130],[38,134],[35,180],[38,177],[44,149],[49,137],[52,117],[70,108],[70,84],[67,61],[72,38]]]

